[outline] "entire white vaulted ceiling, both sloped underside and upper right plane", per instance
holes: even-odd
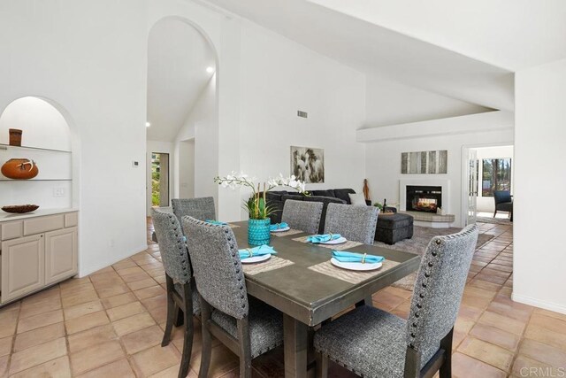
[[[562,0],[208,0],[368,75],[513,110],[517,68],[566,52]]]

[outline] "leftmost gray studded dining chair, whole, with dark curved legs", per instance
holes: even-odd
[[[185,324],[179,377],[186,377],[193,349],[192,318],[200,312],[198,295],[194,289],[194,282],[192,282],[193,274],[187,245],[179,220],[172,212],[164,212],[154,208],[151,212],[151,218],[159,241],[167,292],[167,320],[161,346],[168,345],[171,342],[173,324]],[[181,316],[183,321],[178,321]]]

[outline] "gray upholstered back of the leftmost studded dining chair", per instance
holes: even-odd
[[[159,241],[165,273],[175,282],[189,282],[192,276],[191,264],[179,220],[172,212],[156,208],[151,210],[151,218]]]

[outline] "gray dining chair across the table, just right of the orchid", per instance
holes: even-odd
[[[290,228],[298,229],[309,234],[318,233],[318,225],[322,216],[322,202],[297,201],[287,199],[283,205],[281,221]]]

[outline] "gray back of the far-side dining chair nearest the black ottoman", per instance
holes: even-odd
[[[375,206],[328,204],[325,234],[340,234],[353,242],[373,244],[379,209]]]

